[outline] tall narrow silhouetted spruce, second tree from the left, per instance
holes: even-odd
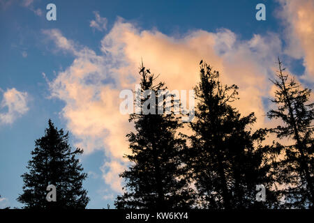
[[[181,123],[171,114],[158,114],[154,103],[158,102],[158,90],[165,89],[163,83],[154,84],[155,77],[142,65],[140,68],[141,91],[151,90],[151,96],[142,98],[140,106],[148,105],[156,114],[131,114],[130,121],[135,123],[135,131],[127,137],[131,155],[125,157],[132,162],[120,177],[126,180],[126,192],[117,197],[117,208],[184,208],[193,203],[184,178],[181,153],[186,149],[186,140],[176,137]],[[139,95],[139,93],[136,93]],[[162,100],[165,107],[165,100]],[[173,102],[173,101],[172,101]],[[161,104],[161,103],[160,103]]]

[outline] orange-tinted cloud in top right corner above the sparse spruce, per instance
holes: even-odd
[[[296,59],[304,59],[306,73],[302,79],[314,82],[314,1],[278,0],[279,17],[285,22],[285,51]]]

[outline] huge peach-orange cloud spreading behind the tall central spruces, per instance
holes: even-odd
[[[58,49],[75,56],[49,83],[51,95],[65,102],[61,115],[77,146],[87,154],[105,152],[107,159],[100,169],[115,192],[121,192],[119,174],[127,165],[122,157],[130,153],[126,134],[133,129],[128,116],[119,112],[119,92],[134,89],[141,58],[151,71],[161,73],[160,80],[170,90],[193,89],[199,81],[198,63],[204,59],[223,74],[225,84],[239,85],[241,100],[234,106],[243,115],[255,112],[255,128],[271,124],[264,116],[262,100],[269,95],[268,78],[273,77],[274,61],[281,53],[281,40],[274,33],[243,41],[227,29],[197,30],[174,38],[119,19],[101,41],[100,55],[76,45],[57,29],[43,33]]]

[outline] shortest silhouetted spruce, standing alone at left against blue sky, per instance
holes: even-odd
[[[29,173],[22,175],[23,193],[17,201],[24,203],[24,208],[85,208],[89,197],[82,182],[87,174],[82,173],[82,165],[75,157],[83,151],[71,151],[68,132],[64,134],[49,120],[45,136],[37,139],[35,145],[28,162]],[[46,200],[48,185],[57,189],[56,202]]]

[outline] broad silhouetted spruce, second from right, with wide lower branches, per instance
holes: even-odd
[[[267,208],[276,206],[276,194],[268,190],[274,183],[267,176],[267,153],[262,146],[264,129],[251,132],[254,113],[241,117],[230,105],[237,100],[236,85],[223,86],[219,72],[200,63],[200,83],[195,87],[198,100],[194,134],[187,163],[195,180],[203,208]],[[267,188],[267,201],[256,201],[256,185]]]

